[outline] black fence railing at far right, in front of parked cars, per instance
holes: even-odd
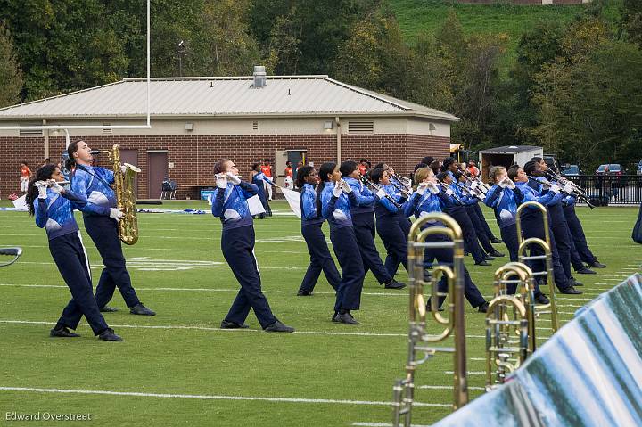
[[[566,178],[584,188],[595,206],[642,203],[642,175],[578,175]]]

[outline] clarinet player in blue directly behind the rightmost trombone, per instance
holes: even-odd
[[[541,183],[535,179],[531,179],[528,176],[536,172],[537,166],[535,162],[529,161],[523,167],[523,173],[518,173],[515,176],[514,182],[515,185],[519,186],[523,194],[523,201],[538,201],[542,205],[547,207],[553,203],[559,203],[564,197],[563,193],[560,193],[560,188],[558,185],[552,185],[551,188],[546,193],[541,193],[542,189]],[[549,194],[552,193],[552,194]],[[526,209],[522,213],[522,225],[523,225],[523,234],[524,238],[528,239],[530,237],[537,237],[539,239],[545,240],[546,235],[544,234],[544,223],[541,218],[539,210],[536,209]],[[550,250],[553,259],[553,274],[555,275],[555,282],[557,289],[562,293],[568,293],[572,295],[577,295],[582,293],[581,291],[576,290],[572,283],[569,282],[568,277],[564,273],[564,268],[562,267],[559,259],[559,254],[557,252],[556,239],[555,235],[552,232],[549,232],[550,237]],[[539,247],[533,247],[531,249],[531,255],[542,255],[542,251]],[[546,268],[544,267],[543,261],[533,261],[531,267],[535,271],[543,271]]]

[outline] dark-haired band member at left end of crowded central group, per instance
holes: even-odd
[[[301,189],[301,234],[308,245],[310,264],[306,274],[303,276],[299,292],[297,292],[299,296],[312,294],[321,271],[324,272],[325,278],[334,291],[338,289],[339,283],[341,283],[341,275],[339,275],[339,271],[334,265],[327,242],[325,242],[325,235],[321,230],[325,219],[321,216],[321,212],[317,210],[316,185],[318,185],[318,175],[315,168],[311,166],[300,168],[297,173],[296,186]]]

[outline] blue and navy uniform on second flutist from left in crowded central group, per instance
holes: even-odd
[[[357,198],[354,191],[335,197],[332,182],[320,185],[324,185],[321,192],[321,216],[327,219],[330,225],[330,241],[342,268],[334,311],[338,313],[341,310],[358,310],[365,273],[350,213],[350,209],[358,204]]]

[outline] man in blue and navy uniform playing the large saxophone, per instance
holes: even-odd
[[[118,311],[116,308],[107,307],[118,287],[131,314],[156,315],[138,300],[125,267],[125,256],[118,231],[118,221],[122,218],[123,212],[116,208],[116,194],[111,189],[114,182],[113,171],[91,165],[94,157],[85,141],[71,143],[67,152],[67,169],[75,168],[70,176],[71,191],[83,200],[78,209],[83,213],[86,232],[94,241],[105,266],[96,286],[95,299],[98,308],[103,312]]]

